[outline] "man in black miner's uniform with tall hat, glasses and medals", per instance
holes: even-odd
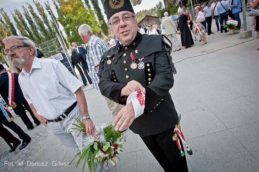
[[[130,127],[139,134],[164,171],[188,171],[185,155],[180,155],[176,141],[172,140],[178,114],[169,93],[174,78],[166,50],[168,41],[162,35],[137,32],[129,0],[104,0],[103,5],[119,43],[102,56],[104,70],[99,87],[105,97],[120,104],[127,101],[113,125],[116,130]],[[140,101],[144,107],[142,114],[133,101],[127,100],[131,93],[139,91],[145,95],[144,101]],[[182,147],[181,141],[180,144]]]

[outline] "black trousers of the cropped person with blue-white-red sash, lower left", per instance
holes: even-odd
[[[19,138],[22,140],[22,142],[27,142],[31,140],[31,137],[29,137],[28,134],[26,134],[14,121],[3,123],[6,127],[10,128],[12,131],[14,131],[16,134],[18,134]],[[8,131],[2,123],[0,123],[0,131],[4,134],[4,136],[7,138],[7,140],[10,143],[13,144],[20,144],[21,141],[14,137],[10,131]]]

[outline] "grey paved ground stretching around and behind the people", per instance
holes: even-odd
[[[170,93],[178,114],[182,115],[187,144],[193,150],[192,156],[186,156],[189,171],[256,172],[259,169],[258,40],[239,39],[238,33],[216,31],[206,38],[206,45],[196,41],[191,48],[172,52],[178,73],[174,75]],[[181,40],[179,36],[178,39]],[[84,91],[95,124],[113,121],[100,92],[92,87],[84,87]],[[22,150],[17,148],[18,154],[14,154],[0,139],[0,171],[81,171],[82,165],[78,169],[74,164],[64,165],[73,155],[43,125],[27,130],[21,119],[14,116],[32,141]],[[125,134],[127,141],[117,171],[162,172],[141,138],[130,130]],[[115,171],[112,166],[110,170]]]

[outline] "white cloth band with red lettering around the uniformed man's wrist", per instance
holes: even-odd
[[[127,98],[126,104],[129,104],[130,102],[132,102],[134,113],[135,113],[135,119],[144,113],[145,94],[146,94],[146,91],[145,92],[142,92],[140,90],[134,91]]]

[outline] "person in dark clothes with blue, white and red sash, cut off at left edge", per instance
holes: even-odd
[[[3,106],[0,105],[0,131],[4,135],[4,137],[12,143],[13,148],[16,149],[18,145],[21,143],[21,141],[14,137],[10,131],[8,131],[3,124],[10,128],[12,131],[14,131],[16,134],[18,134],[19,138],[22,140],[22,145],[20,146],[20,150],[25,148],[29,142],[31,141],[31,137],[29,137],[28,134],[26,134],[14,121],[11,113],[5,109]],[[3,137],[2,135],[0,135]],[[9,152],[12,152],[11,149]]]

